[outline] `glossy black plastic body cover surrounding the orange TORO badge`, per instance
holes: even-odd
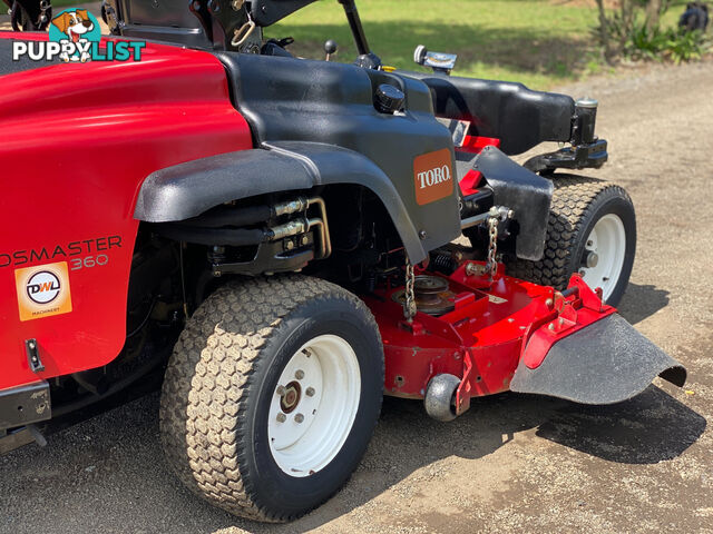
[[[439,200],[420,206],[416,199],[418,156],[447,149],[455,168],[451,135],[433,117],[423,83],[326,61],[234,52],[217,56],[227,69],[235,106],[258,142],[325,144],[356,152],[397,191],[398,204],[390,206],[390,200],[381,199],[387,209],[402,209],[392,216],[402,236],[422,233],[422,249],[429,251],[460,235],[457,184],[451,195]],[[374,108],[382,83],[406,95],[403,113],[385,115]],[[411,260],[418,261],[416,257]]]

